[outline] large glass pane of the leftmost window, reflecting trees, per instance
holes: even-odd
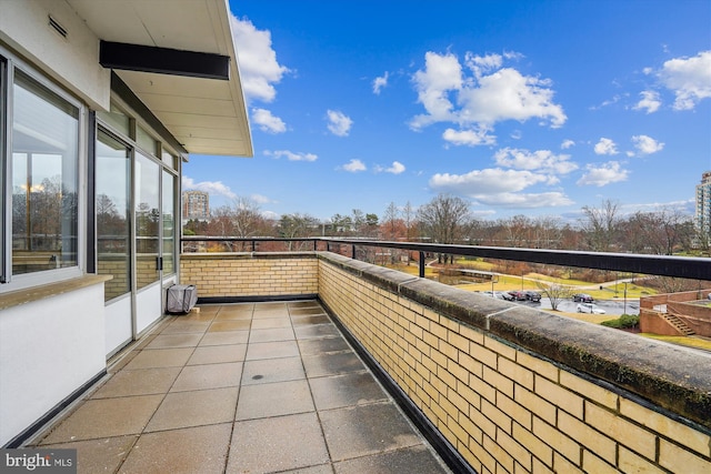
[[[17,71],[12,273],[76,266],[79,110]]]

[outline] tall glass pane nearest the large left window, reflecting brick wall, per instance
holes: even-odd
[[[129,177],[130,152],[99,132],[97,141],[97,261],[98,273],[113,275],[104,283],[109,301],[131,290]]]

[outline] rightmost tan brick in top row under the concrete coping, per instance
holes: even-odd
[[[662,436],[711,457],[711,436],[627,399],[620,399],[620,413]]]

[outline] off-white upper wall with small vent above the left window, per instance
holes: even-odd
[[[52,16],[67,31],[49,26]],[[111,73],[99,64],[99,38],[62,0],[1,0],[0,40],[87,101],[108,110]]]

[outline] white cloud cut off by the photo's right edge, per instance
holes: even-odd
[[[659,78],[677,97],[675,110],[693,109],[701,100],[711,98],[711,51],[665,61]]]

